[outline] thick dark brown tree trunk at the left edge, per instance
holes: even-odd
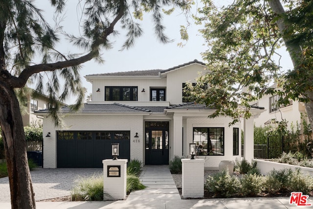
[[[19,102],[13,88],[0,81],[0,126],[9,175],[12,209],[35,209]]]

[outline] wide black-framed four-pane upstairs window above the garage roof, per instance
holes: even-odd
[[[106,86],[105,101],[137,101],[136,86]]]

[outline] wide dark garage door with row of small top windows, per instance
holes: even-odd
[[[58,131],[57,167],[102,167],[119,143],[120,159],[130,161],[130,131]]]

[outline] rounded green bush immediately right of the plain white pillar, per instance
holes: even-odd
[[[230,176],[225,170],[208,176],[204,184],[204,189],[207,192],[212,192],[214,197],[231,197],[238,193],[239,188],[239,180]]]

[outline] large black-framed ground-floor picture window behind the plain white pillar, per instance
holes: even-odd
[[[194,128],[197,155],[224,155],[224,128]]]

